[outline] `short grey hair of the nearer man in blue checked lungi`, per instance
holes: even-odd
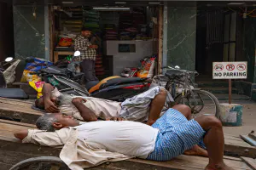
[[[43,116],[40,116],[36,122],[36,126],[40,130],[46,130],[47,132],[55,132],[55,127],[53,126],[54,122],[58,122],[58,119],[55,117],[55,114],[45,113]]]

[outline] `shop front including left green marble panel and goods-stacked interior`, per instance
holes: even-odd
[[[66,38],[92,30],[98,45],[96,74],[102,79],[120,75],[126,67],[138,67],[145,57],[157,56],[160,71],[162,10],[159,2],[14,1],[15,55],[48,59],[54,63],[72,57],[73,43]]]

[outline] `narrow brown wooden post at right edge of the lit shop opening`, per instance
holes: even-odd
[[[162,73],[162,62],[163,62],[163,6],[159,7],[159,16],[158,16],[158,23],[159,23],[159,27],[158,27],[158,32],[159,32],[159,36],[158,36],[158,71],[157,74],[161,74]]]

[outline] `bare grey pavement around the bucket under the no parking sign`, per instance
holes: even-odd
[[[220,101],[220,103],[228,103],[228,101]],[[256,132],[256,102],[248,100],[234,100],[233,104],[242,105],[242,126],[241,127],[224,127],[224,133],[234,134],[248,134],[252,130]]]

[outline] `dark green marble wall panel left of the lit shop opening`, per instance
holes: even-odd
[[[13,10],[15,54],[44,58],[44,6],[37,7],[36,18],[32,6],[14,6]]]

